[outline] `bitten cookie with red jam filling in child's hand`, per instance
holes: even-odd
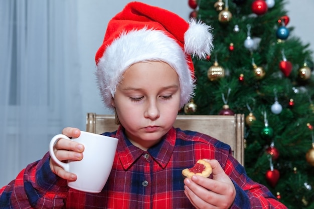
[[[191,178],[193,175],[201,175],[207,178],[211,173],[212,166],[202,159],[198,160],[193,167],[182,170],[182,175],[188,178]]]

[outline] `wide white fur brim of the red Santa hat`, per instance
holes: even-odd
[[[111,99],[124,71],[132,64],[142,61],[163,61],[176,70],[181,89],[181,106],[193,96],[195,85],[187,54],[163,31],[143,28],[122,32],[120,37],[107,46],[99,59],[96,76],[107,107],[112,108]]]

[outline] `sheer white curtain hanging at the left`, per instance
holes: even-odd
[[[0,1],[0,187],[82,121],[76,4]]]

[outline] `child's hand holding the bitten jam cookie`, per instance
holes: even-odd
[[[217,160],[206,160],[213,178],[193,174],[184,179],[185,194],[196,208],[230,208],[236,191],[233,182]]]

